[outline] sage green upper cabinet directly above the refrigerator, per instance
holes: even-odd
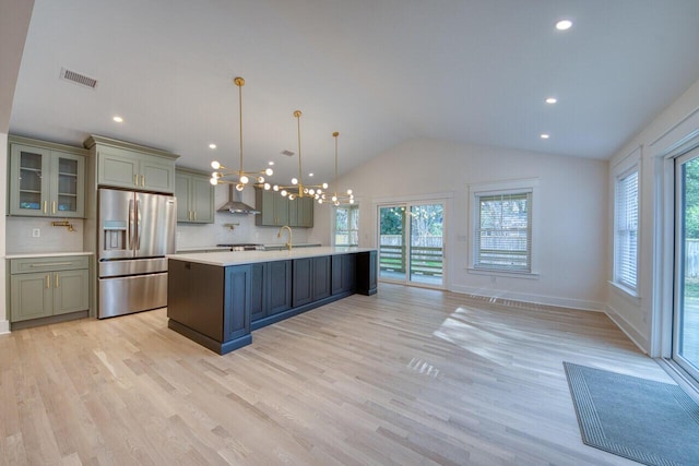
[[[85,147],[97,157],[98,186],[175,192],[178,155],[96,135],[85,141]]]

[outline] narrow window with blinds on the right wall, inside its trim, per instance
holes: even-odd
[[[638,270],[638,166],[616,177],[614,200],[614,282],[632,291]]]

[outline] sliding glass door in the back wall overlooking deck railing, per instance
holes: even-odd
[[[443,287],[443,203],[380,205],[378,216],[379,278]]]

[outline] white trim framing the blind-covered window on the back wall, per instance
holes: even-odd
[[[538,274],[538,240],[541,231],[541,196],[538,178],[524,178],[519,180],[505,180],[495,182],[471,183],[469,184],[469,266],[466,272],[476,275],[506,276],[514,278],[537,279]],[[516,272],[502,270],[489,270],[475,267],[475,230],[478,217],[477,195],[500,194],[507,192],[531,192],[532,193],[532,258],[530,272]]]

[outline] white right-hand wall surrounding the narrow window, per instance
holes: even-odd
[[[653,357],[661,356],[660,347],[651,349],[653,334],[653,313],[661,312],[662,309],[655,309],[664,303],[653,304],[657,298],[656,289],[654,289],[654,278],[662,279],[660,275],[672,274],[671,271],[663,272],[660,264],[654,261],[654,242],[656,240],[656,226],[662,226],[664,222],[656,216],[655,212],[655,194],[661,182],[659,166],[655,164],[654,155],[663,147],[657,147],[655,141],[666,135],[668,131],[676,128],[680,122],[691,123],[686,129],[683,128],[684,136],[691,130],[699,129],[699,123],[694,123],[691,116],[699,109],[699,81],[695,83],[687,92],[680,96],[675,103],[668,106],[657,118],[655,118],[645,129],[643,129],[636,138],[628,142],[609,162],[611,167],[616,165],[627,154],[631,153],[639,146],[641,147],[641,176],[640,186],[640,227],[639,227],[639,274],[638,274],[638,294],[639,298],[631,298],[616,287],[608,285],[607,313],[614,321],[639,345],[643,350]],[[696,113],[695,113],[696,120]],[[663,138],[665,140],[666,138]],[[664,141],[662,144],[667,144]],[[662,178],[662,177],[660,177]],[[609,186],[612,186],[612,175],[609,177]],[[613,199],[609,198],[609,215],[612,215]],[[612,226],[609,217],[609,225]],[[672,222],[672,219],[670,219]],[[656,225],[657,224],[657,225]],[[609,251],[613,244],[612,228],[608,231],[607,242]],[[614,266],[612,254],[609,254],[606,268],[612,271]],[[660,322],[654,324],[655,331],[661,328]]]

